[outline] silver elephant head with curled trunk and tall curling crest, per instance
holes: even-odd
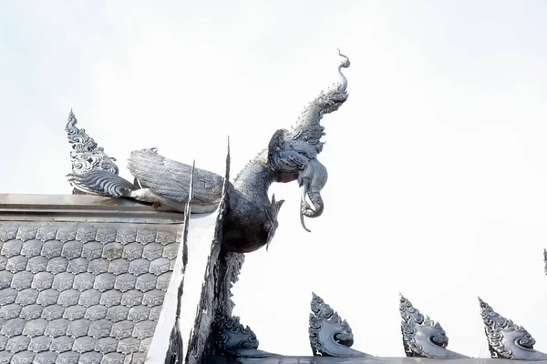
[[[278,173],[277,182],[297,180],[302,188],[300,220],[306,231],[310,230],[304,225],[304,217],[319,217],[324,210],[321,189],[325,187],[327,172],[317,160],[325,144],[321,142],[325,127],[320,121],[344,104],[348,96],[346,76],[341,69],[350,63],[339,50],[338,55],[344,57],[338,66],[340,80],[304,108],[291,130],[277,130],[268,146],[268,164]]]

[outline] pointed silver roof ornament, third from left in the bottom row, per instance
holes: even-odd
[[[446,349],[449,338],[439,322],[419,313],[412,303],[399,295],[401,314],[401,332],[407,357],[448,359],[467,358],[457,352]]]

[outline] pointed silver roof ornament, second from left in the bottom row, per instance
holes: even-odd
[[[314,356],[321,357],[372,357],[351,349],[354,338],[346,320],[312,293],[309,337]]]

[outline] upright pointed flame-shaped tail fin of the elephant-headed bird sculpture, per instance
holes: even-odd
[[[106,171],[110,174],[118,175],[119,170],[116,163],[114,163],[116,158],[108,157],[104,149],[102,147],[98,147],[95,140],[91,136],[88,136],[86,129],[80,129],[76,125],[77,118],[72,110],[70,110],[65,130],[67,131],[68,142],[72,146],[72,151],[70,152],[72,173],[69,176],[76,177],[76,179],[70,179],[70,184],[74,187],[72,193],[75,195],[82,193],[93,193],[88,188],[83,187],[83,185],[80,187],[81,184],[78,183],[77,177],[96,170]],[[101,179],[104,179],[104,177],[101,176]],[[94,183],[97,184],[104,182],[95,181]]]

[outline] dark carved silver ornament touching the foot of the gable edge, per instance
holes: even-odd
[[[248,326],[243,327],[238,317],[228,317],[220,310],[212,324],[217,354],[237,358],[267,358],[275,354],[258,349],[258,339]]]

